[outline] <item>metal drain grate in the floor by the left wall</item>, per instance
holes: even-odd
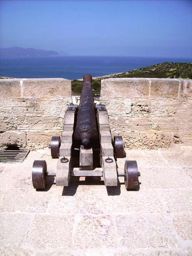
[[[28,150],[3,150],[0,151],[0,162],[6,163],[12,163],[12,162],[23,162],[25,157],[30,152],[30,149]]]

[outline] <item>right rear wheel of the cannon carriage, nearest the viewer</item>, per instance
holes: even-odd
[[[136,161],[125,161],[125,188],[138,189],[139,187],[139,172]]]

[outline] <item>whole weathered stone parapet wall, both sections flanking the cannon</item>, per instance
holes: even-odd
[[[0,79],[0,149],[43,148],[63,130],[71,80]],[[192,145],[192,80],[109,78],[101,82],[112,135],[129,148]]]

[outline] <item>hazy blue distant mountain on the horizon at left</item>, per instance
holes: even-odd
[[[21,56],[58,56],[55,51],[45,51],[34,48],[10,47],[0,48],[0,57],[21,57]]]

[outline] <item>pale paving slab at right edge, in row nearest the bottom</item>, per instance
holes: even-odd
[[[173,225],[177,234],[184,240],[192,240],[191,215],[176,215],[173,217]]]

